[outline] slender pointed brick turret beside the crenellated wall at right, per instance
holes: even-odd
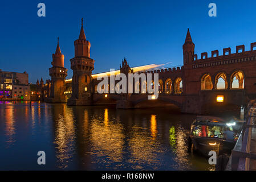
[[[194,55],[194,43],[192,41],[189,28],[188,32],[186,33],[185,43],[183,45],[183,61],[185,64],[192,64]]]

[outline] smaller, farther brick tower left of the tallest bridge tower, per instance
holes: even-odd
[[[66,102],[65,91],[65,78],[67,76],[67,69],[64,68],[64,55],[60,51],[59,38],[55,53],[52,54],[52,67],[49,68],[51,76],[51,88],[50,97],[47,98],[47,102]],[[48,81],[47,86],[49,86]]]

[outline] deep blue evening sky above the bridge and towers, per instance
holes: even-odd
[[[37,5],[46,5],[46,17],[37,16]],[[208,5],[217,5],[217,17],[208,16]],[[0,3],[0,69],[29,73],[29,81],[48,76],[57,37],[65,55],[67,78],[78,39],[81,18],[91,42],[93,73],[119,69],[126,57],[131,67],[171,62],[183,64],[182,45],[187,28],[195,53],[256,42],[256,1],[2,1]],[[198,59],[200,56],[198,57]]]

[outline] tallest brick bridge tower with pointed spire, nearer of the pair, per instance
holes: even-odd
[[[90,58],[91,43],[86,40],[84,34],[83,19],[78,40],[74,42],[75,57],[70,60],[72,77],[72,96],[68,99],[67,105],[91,105],[92,92],[92,71],[94,60]]]

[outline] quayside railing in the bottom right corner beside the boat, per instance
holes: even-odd
[[[241,135],[231,153],[232,171],[249,171],[251,170],[251,160],[256,160],[256,148],[254,144],[256,142],[252,140],[256,135],[256,131],[253,130],[253,128],[256,128],[255,123],[256,106],[248,105],[247,121],[244,123]]]

